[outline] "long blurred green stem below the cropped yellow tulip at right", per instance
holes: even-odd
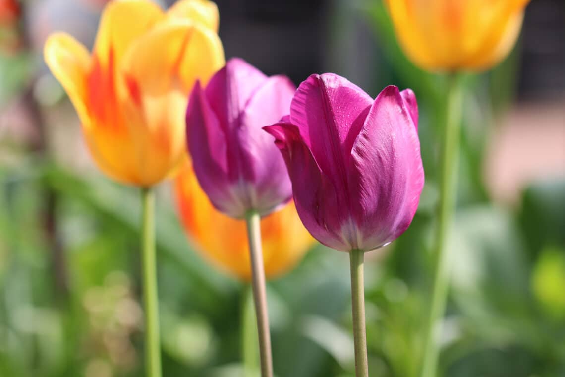
[[[463,90],[459,77],[449,77],[445,129],[442,135],[440,161],[440,203],[434,249],[436,251],[436,271],[432,292],[432,304],[426,331],[424,362],[421,377],[436,377],[440,354],[439,340],[441,319],[445,313],[447,291],[449,288],[449,249],[447,237],[455,213],[457,200],[457,167],[459,164],[459,138],[463,106]]]

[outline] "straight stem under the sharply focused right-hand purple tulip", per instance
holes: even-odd
[[[365,252],[354,249],[349,252],[351,264],[351,309],[353,311],[353,342],[355,346],[355,376],[368,377],[367,334],[365,325],[365,285],[363,259]]]

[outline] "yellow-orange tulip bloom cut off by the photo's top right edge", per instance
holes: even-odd
[[[427,71],[481,71],[512,50],[529,0],[385,0],[409,59]]]

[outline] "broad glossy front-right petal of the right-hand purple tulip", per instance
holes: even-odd
[[[420,142],[396,86],[386,87],[371,106],[348,173],[359,247],[370,250],[396,239],[414,218],[424,185]]]

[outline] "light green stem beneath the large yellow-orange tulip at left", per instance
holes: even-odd
[[[145,366],[146,376],[161,376],[159,345],[159,301],[157,298],[157,263],[155,257],[155,197],[151,188],[141,191],[143,220],[143,296],[145,309]]]

